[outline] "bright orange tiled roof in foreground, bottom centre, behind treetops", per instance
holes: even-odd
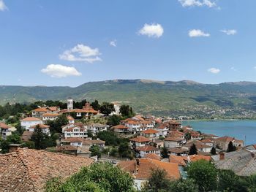
[[[150,158],[139,158],[132,161],[120,161],[118,166],[126,172],[132,174],[137,180],[148,180],[151,177],[152,169],[163,169],[167,172],[167,177],[178,180],[181,174],[178,164],[162,162]]]

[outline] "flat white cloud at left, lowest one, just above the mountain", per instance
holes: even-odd
[[[57,78],[81,75],[75,67],[60,64],[50,64],[45,69],[42,69],[41,72]]]

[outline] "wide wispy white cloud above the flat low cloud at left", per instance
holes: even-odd
[[[64,53],[59,55],[59,58],[66,61],[85,61],[93,63],[94,61],[102,61],[99,58],[99,49],[92,49],[89,46],[78,44],[70,50],[65,50]]]

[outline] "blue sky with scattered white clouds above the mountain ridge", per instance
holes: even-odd
[[[255,0],[0,0],[0,85],[256,81]]]

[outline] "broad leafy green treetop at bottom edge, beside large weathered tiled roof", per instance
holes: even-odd
[[[49,192],[95,191],[135,192],[129,173],[108,163],[92,164],[73,174],[64,183],[55,178],[46,185]]]

